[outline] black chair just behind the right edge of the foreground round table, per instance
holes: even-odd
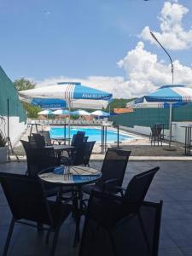
[[[90,195],[92,190],[113,195],[119,193],[117,187],[122,186],[130,154],[131,151],[108,148],[102,163],[102,178],[95,185],[84,186],[84,193]]]

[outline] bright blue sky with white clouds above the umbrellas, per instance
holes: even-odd
[[[78,81],[114,97],[192,87],[191,0],[0,0],[0,65],[13,81]]]

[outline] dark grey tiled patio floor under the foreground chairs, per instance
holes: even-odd
[[[92,161],[91,166],[100,168],[101,161]],[[160,232],[160,256],[192,256],[192,162],[190,161],[130,161],[125,173],[125,185],[136,173],[160,166],[154,177],[147,199],[163,200]],[[0,165],[0,172],[24,173],[26,163]],[[7,236],[11,214],[0,188],[0,255]],[[78,255],[73,248],[73,219],[67,219],[58,240],[55,255]],[[10,244],[11,256],[47,256],[49,248],[44,244],[44,234],[36,229],[17,224]],[[134,256],[134,255],[131,255]]]

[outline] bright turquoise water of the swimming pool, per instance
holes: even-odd
[[[92,127],[71,127],[70,137],[73,137],[73,134],[76,134],[77,131],[85,131],[85,136],[88,136],[88,141],[96,141],[96,143],[102,143],[102,130],[100,128]],[[64,128],[63,127],[51,127],[50,137],[64,137]],[[68,137],[68,128],[66,128],[66,137]],[[119,141],[127,141],[130,139],[136,138],[134,136],[119,132]],[[107,131],[107,142],[114,143],[117,141],[117,132],[112,131],[108,128]]]

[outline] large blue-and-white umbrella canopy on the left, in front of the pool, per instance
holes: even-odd
[[[19,92],[20,100],[31,102],[33,105],[49,106],[53,103],[57,108],[107,108],[112,101],[112,94],[103,90],[81,85],[80,83],[57,83],[54,85],[22,90]],[[70,105],[70,106],[69,106]]]

